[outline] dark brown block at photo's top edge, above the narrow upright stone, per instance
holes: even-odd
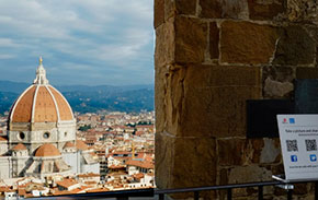
[[[201,17],[248,19],[246,0],[200,0]]]

